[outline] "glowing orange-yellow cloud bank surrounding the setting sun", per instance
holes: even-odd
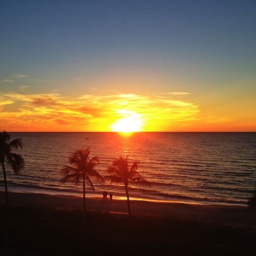
[[[200,112],[199,106],[174,100],[172,94],[66,97],[58,93],[12,92],[0,96],[4,102],[17,103],[11,111],[0,112],[0,119],[7,126],[15,120],[15,127],[21,130],[109,131],[113,123],[133,115],[140,117],[143,130],[163,130],[174,123],[197,120]]]

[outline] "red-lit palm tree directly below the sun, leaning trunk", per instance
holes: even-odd
[[[137,172],[138,163],[134,162],[130,168],[128,168],[128,156],[120,157],[113,161],[112,166],[107,169],[107,172],[110,175],[104,177],[104,180],[110,182],[110,184],[124,184],[125,191],[127,196],[127,204],[128,204],[128,214],[131,215],[130,211],[130,201],[129,201],[129,193],[128,193],[128,184],[132,183],[141,183],[143,185],[148,185],[151,188],[150,183],[141,177],[141,175]]]

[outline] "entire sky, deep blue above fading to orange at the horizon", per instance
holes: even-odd
[[[256,131],[256,1],[0,1],[0,130]]]

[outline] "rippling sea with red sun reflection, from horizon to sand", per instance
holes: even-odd
[[[82,196],[82,183],[61,183],[60,169],[75,149],[99,156],[99,173],[119,155],[139,161],[139,173],[151,188],[130,183],[132,199],[246,205],[256,189],[256,133],[140,132],[13,132],[22,138],[19,153],[26,167],[18,175],[7,168],[9,191]],[[89,139],[88,139],[89,138]],[[93,181],[87,197],[112,192],[125,198],[122,185]],[[0,189],[4,190],[2,172]]]

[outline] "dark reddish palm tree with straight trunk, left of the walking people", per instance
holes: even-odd
[[[94,186],[91,182],[91,177],[103,181],[101,175],[95,171],[95,165],[99,162],[97,156],[89,159],[90,149],[79,149],[69,155],[68,160],[70,165],[65,165],[61,172],[63,174],[62,182],[73,181],[75,184],[83,183],[83,211],[85,212],[85,183],[89,184],[94,192]]]

